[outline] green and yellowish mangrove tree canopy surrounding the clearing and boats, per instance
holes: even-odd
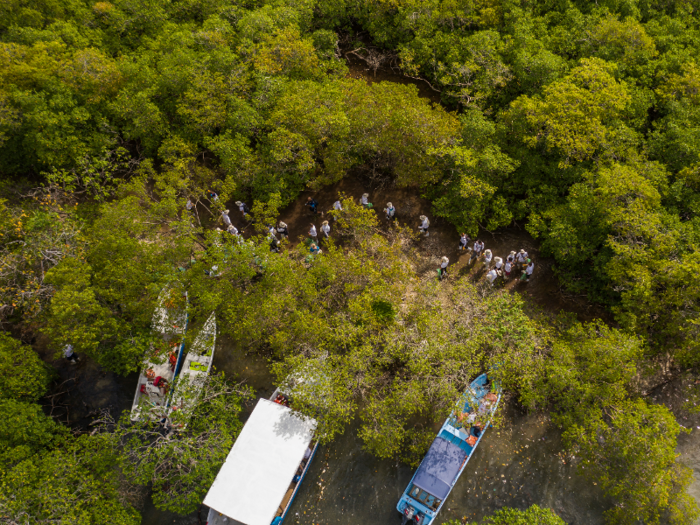
[[[158,347],[151,314],[178,279],[192,322],[216,311],[269,358],[323,441],[359,417],[368,450],[411,463],[497,364],[615,498],[611,523],[689,523],[682,429],[639,384],[659,355],[700,364],[699,24],[686,0],[6,2],[0,322],[124,374]],[[344,53],[440,104],[350,78]],[[466,279],[437,286],[410,231],[380,231],[350,200],[322,257],[269,252],[281,207],[357,175],[413,188],[471,235],[524,224],[563,288],[617,328],[527,316]],[[258,220],[240,243],[212,228],[236,199]],[[12,519],[136,522],[124,472],[187,511],[239,428],[242,393],[220,384],[189,434],[121,422],[72,438],[37,404],[50,380],[0,335]],[[197,468],[176,472],[182,458]],[[521,514],[491,519],[555,519]]]

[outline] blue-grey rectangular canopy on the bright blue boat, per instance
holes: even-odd
[[[441,437],[435,438],[413,478],[413,484],[445,499],[466,458],[467,453],[457,445]]]

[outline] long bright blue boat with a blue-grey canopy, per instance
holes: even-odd
[[[484,437],[500,401],[500,387],[489,383],[486,374],[469,385],[396,505],[403,516],[402,525],[411,520],[415,525],[429,525],[435,521]],[[477,428],[479,423],[481,430]]]

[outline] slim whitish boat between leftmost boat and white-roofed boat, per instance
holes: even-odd
[[[216,350],[216,314],[212,312],[197,334],[182,363],[168,407],[168,424],[184,430],[211,371]]]

